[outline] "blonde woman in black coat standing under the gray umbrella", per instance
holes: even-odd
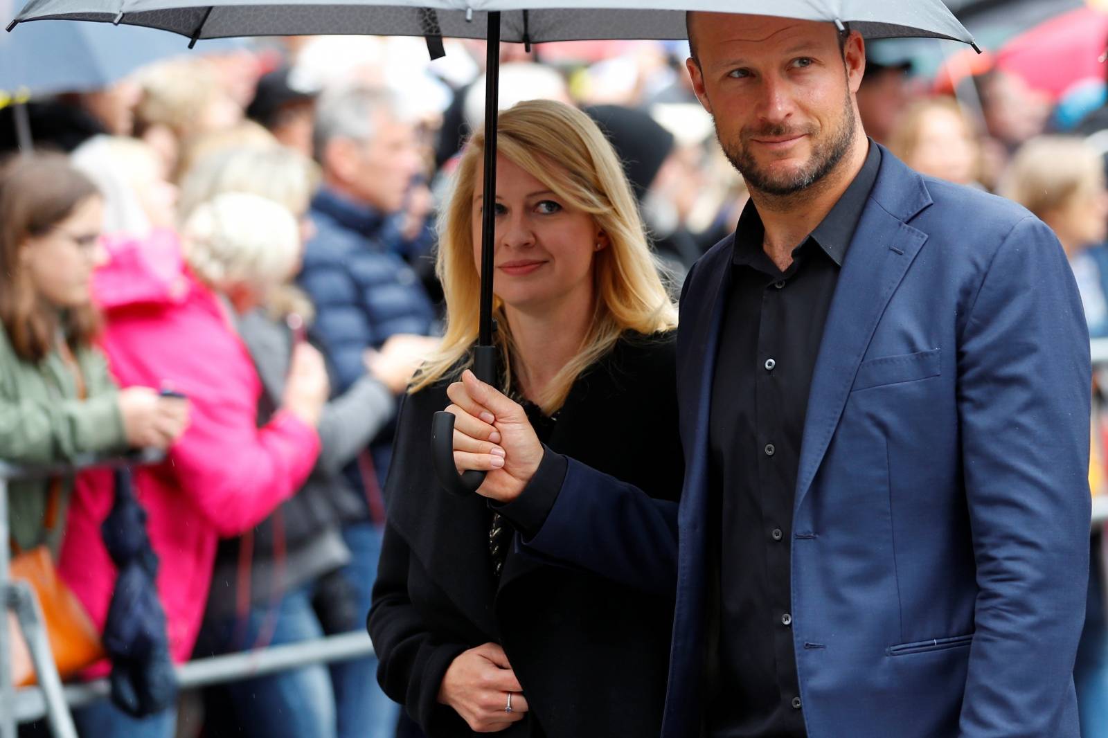
[[[677,316],[619,161],[562,103],[520,103],[497,127],[499,385],[552,449],[667,498],[683,474]],[[531,557],[516,546],[529,511],[451,496],[427,461],[478,335],[483,154],[476,133],[440,222],[442,349],[400,413],[368,624],[378,678],[430,738],[656,735],[671,597]]]

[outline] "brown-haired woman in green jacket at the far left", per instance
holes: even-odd
[[[82,453],[165,449],[188,406],[151,387],[120,390],[95,347],[93,269],[103,262],[103,197],[61,155],[12,160],[0,171],[0,459],[58,463]],[[14,482],[11,542],[64,535],[72,479]]]

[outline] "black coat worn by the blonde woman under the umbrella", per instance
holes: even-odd
[[[652,496],[676,500],[684,464],[674,349],[674,334],[624,338],[583,372],[540,437]],[[369,614],[381,687],[430,738],[471,736],[438,703],[439,687],[459,654],[497,642],[531,706],[526,719],[500,734],[505,738],[657,736],[673,598],[544,562],[516,545],[497,581],[485,500],[442,491],[428,463],[431,416],[450,403],[445,386],[408,397],[401,409]]]

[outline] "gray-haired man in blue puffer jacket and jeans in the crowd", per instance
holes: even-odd
[[[371,367],[386,341],[406,344],[413,357],[435,345],[427,338],[435,310],[416,271],[401,256],[408,250],[399,215],[420,172],[416,127],[387,92],[348,88],[325,93],[316,110],[312,148],[322,167],[322,186],[311,203],[317,233],[305,249],[298,277],[316,305],[312,339],[322,348],[338,392]],[[392,450],[391,427],[362,453],[351,481],[365,489],[363,515],[347,523],[343,537],[352,554],[341,582],[353,591],[349,623],[362,627],[377,574],[384,508],[380,490]],[[343,618],[338,618],[343,619]],[[377,659],[356,659],[332,668],[338,736],[391,738],[398,708],[377,686]]]

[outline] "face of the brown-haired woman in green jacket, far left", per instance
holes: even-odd
[[[21,264],[35,293],[50,305],[75,308],[90,303],[92,271],[106,258],[100,240],[103,225],[103,202],[86,197],[50,230],[22,244]]]

